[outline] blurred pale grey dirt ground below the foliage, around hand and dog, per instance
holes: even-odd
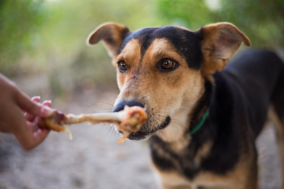
[[[21,88],[29,87],[18,82]],[[118,94],[112,90],[76,92],[53,106],[74,114],[111,111]],[[109,103],[109,104],[108,104]],[[117,144],[119,134],[110,125],[70,126],[73,140],[51,132],[30,152],[23,151],[10,134],[0,133],[0,189],[156,189],[147,142]],[[280,165],[272,126],[257,140],[262,189],[280,183]]]

